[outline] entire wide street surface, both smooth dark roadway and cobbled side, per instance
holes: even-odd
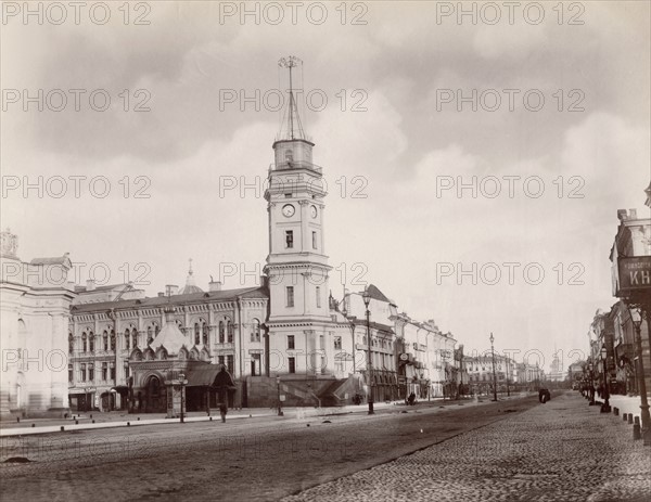
[[[578,392],[1,438],[4,501],[649,500],[651,448]],[[7,462],[10,458],[29,462]]]

